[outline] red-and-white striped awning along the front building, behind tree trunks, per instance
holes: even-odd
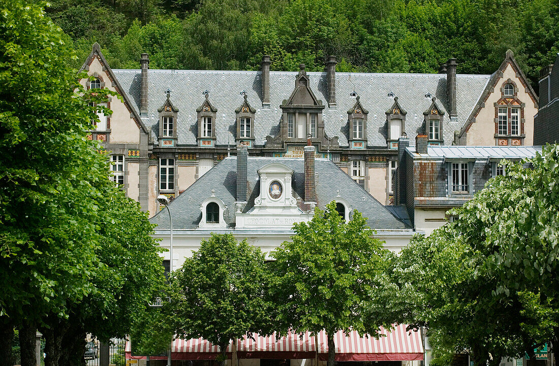
[[[423,360],[423,344],[416,331],[406,331],[406,325],[395,325],[390,331],[382,329],[380,338],[360,337],[356,331],[345,334],[339,331],[334,338],[337,361],[408,361]],[[269,358],[269,359],[312,359],[316,357],[316,345],[321,360],[328,358],[328,341],[321,331],[315,337],[309,332],[302,335],[290,333],[276,338],[253,334],[254,339],[244,336],[236,341],[237,358]],[[233,352],[233,344],[227,349],[229,357]],[[219,347],[202,338],[176,339],[172,345],[172,357],[177,360],[215,359]],[[127,359],[141,359],[131,355],[130,343],[126,344]],[[152,359],[158,359],[154,357]]]

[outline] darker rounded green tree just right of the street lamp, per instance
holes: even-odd
[[[224,363],[231,340],[269,334],[269,276],[264,254],[233,234],[212,234],[170,276],[163,309],[179,337],[219,346]]]

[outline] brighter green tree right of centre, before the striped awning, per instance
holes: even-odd
[[[326,211],[316,209],[308,223],[293,225],[290,242],[272,252],[276,280],[277,327],[285,334],[324,330],[328,339],[328,365],[335,359],[334,335],[339,331],[368,331],[378,336],[390,320],[363,324],[362,305],[375,286],[386,249],[371,237],[373,232],[358,211],[345,223],[335,203]],[[373,326],[374,324],[374,326]]]

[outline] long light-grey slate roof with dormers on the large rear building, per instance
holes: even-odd
[[[140,70],[112,70],[132,100],[132,107],[140,109]],[[157,109],[165,102],[165,90],[171,90],[170,100],[178,109],[178,145],[196,145],[196,108],[204,100],[203,91],[209,91],[210,102],[217,108],[216,144],[234,144],[236,125],[235,109],[243,103],[241,91],[248,95],[248,102],[256,108],[255,145],[262,146],[266,136],[277,136],[280,131],[283,99],[288,99],[295,88],[297,72],[270,72],[270,109],[262,108],[262,83],[260,71],[203,71],[203,70],[149,70],[148,71],[148,117],[143,121],[151,127],[157,144],[159,114]],[[405,132],[414,137],[424,132],[423,112],[436,97],[444,110],[443,138],[450,145],[454,131],[462,128],[471,114],[491,75],[456,75],[457,121],[451,122],[447,109],[446,74],[372,74],[336,73],[337,108],[328,107],[326,73],[307,73],[310,88],[326,106],[323,110],[325,132],[329,138],[338,136],[340,146],[348,147],[348,114],[356,102],[350,94],[355,91],[363,107],[368,109],[368,147],[386,148],[386,110],[394,103],[394,97],[408,114]],[[394,97],[389,97],[393,93]],[[426,97],[430,94],[429,97]],[[415,144],[410,139],[411,145]]]

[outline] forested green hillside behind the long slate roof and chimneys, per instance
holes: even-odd
[[[555,0],[54,0],[79,67],[97,41],[112,68],[493,73],[514,51],[537,86],[559,50]]]

